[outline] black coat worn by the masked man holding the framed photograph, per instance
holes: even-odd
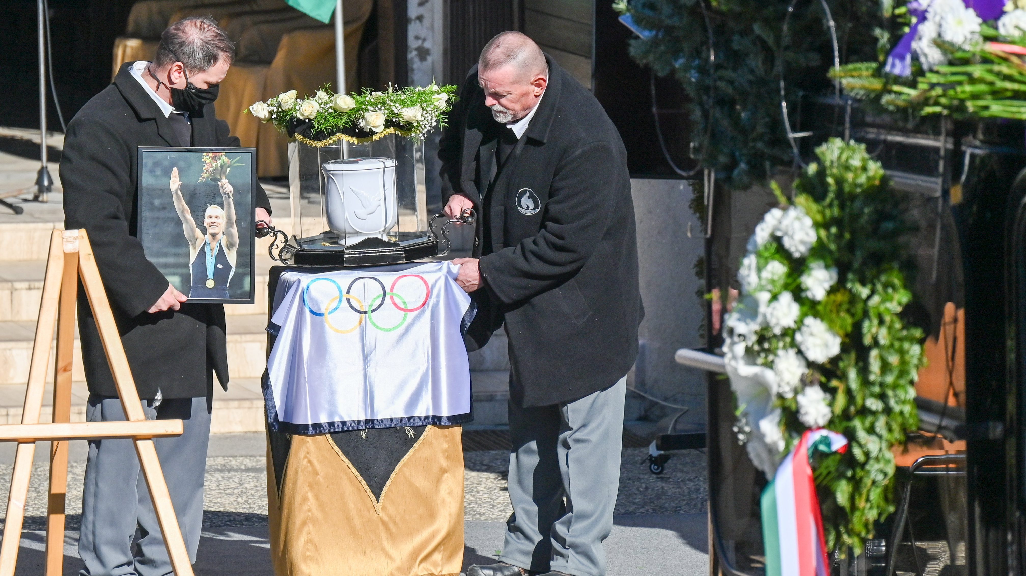
[[[114,83],[92,97],[68,125],[61,159],[65,227],[85,229],[121,332],[140,398],[198,398],[210,394],[211,372],[228,385],[225,308],[185,303],[149,314],[167,279],[146,259],[137,239],[139,147],[182,146],[170,122],[121,67]],[[190,116],[192,146],[238,147],[213,105]],[[256,205],[270,211],[264,190]],[[89,392],[117,396],[96,323],[79,290],[78,326]]]

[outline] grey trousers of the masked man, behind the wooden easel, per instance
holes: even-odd
[[[158,438],[154,443],[189,559],[195,563],[203,527],[210,402],[206,398],[170,399],[154,408],[153,401],[145,400],[143,408],[149,419],[181,418],[185,424],[182,436]],[[124,420],[121,401],[89,395],[86,419]],[[78,553],[85,563],[80,576],[173,574],[131,440],[89,441]]]

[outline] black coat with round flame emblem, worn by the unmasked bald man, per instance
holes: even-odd
[[[548,86],[488,193],[488,213],[482,182],[495,161],[489,135],[501,126],[484,106],[476,66],[438,153],[444,200],[464,194],[481,215],[474,256],[485,287],[474,293],[480,312],[468,345],[483,345],[506,323],[511,396],[523,406],[615,384],[637,357],[644,315],[627,152],[592,93],[546,59]],[[485,225],[492,245],[480,256]]]

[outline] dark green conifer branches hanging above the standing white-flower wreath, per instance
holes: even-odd
[[[832,94],[825,77],[833,61],[830,34],[818,0],[796,3],[786,38],[790,0],[704,1],[622,0],[614,8],[646,31],[645,38],[631,40],[631,56],[660,76],[674,74],[690,97],[690,139],[702,166],[742,190],[792,163],[780,106],[781,67],[792,123],[801,92]],[[838,0],[828,5],[841,60],[874,57],[875,5]]]

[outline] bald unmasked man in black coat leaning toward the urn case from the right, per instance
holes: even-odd
[[[505,322],[513,452],[500,563],[467,576],[602,576],[625,376],[643,315],[627,153],[595,97],[518,32],[481,52],[438,153],[445,212],[472,208],[468,346]]]

